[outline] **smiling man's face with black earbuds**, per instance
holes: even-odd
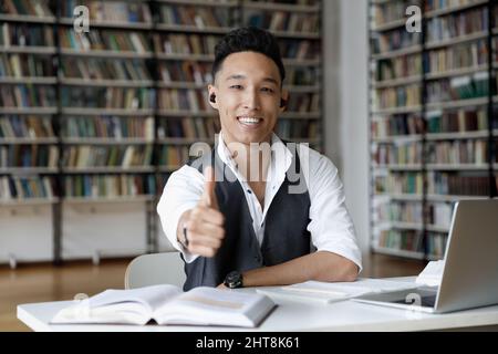
[[[228,55],[209,94],[216,94],[226,144],[270,142],[280,112],[281,80],[277,64],[256,52]]]

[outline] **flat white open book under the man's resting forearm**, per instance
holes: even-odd
[[[419,284],[407,281],[361,278],[353,282],[320,282],[310,280],[280,288],[261,288],[257,289],[257,292],[269,295],[270,298],[331,303],[369,293],[408,290],[418,287]]]

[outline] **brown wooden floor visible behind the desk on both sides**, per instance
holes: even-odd
[[[71,300],[77,293],[93,295],[105,289],[122,289],[129,259],[87,262],[20,264],[11,270],[0,266],[0,332],[29,331],[15,317],[19,303]],[[422,271],[425,263],[387,256],[364,256],[361,277],[403,277]]]

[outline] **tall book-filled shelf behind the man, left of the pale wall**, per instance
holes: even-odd
[[[83,34],[73,27],[80,4],[90,10]],[[281,44],[290,100],[276,133],[323,150],[321,7],[319,0],[3,1],[0,207],[51,208],[50,259],[59,263],[69,207],[143,204],[145,249],[158,251],[156,204],[189,145],[214,144],[220,128],[207,103],[214,48],[240,25],[269,29]]]

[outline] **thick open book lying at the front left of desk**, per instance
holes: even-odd
[[[62,309],[51,323],[124,323],[259,325],[274,303],[262,294],[195,288],[183,292],[175,285],[106,290]]]

